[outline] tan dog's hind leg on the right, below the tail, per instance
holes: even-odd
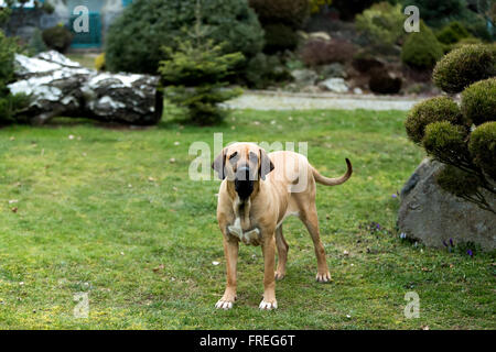
[[[309,230],[310,235],[312,237],[313,246],[315,248],[315,255],[317,258],[317,274],[315,278],[320,283],[328,283],[331,280],[331,273],[328,272],[327,261],[325,260],[324,245],[321,241],[315,204],[305,207],[300,213],[300,219]]]

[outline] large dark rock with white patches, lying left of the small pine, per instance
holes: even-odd
[[[64,116],[145,125],[162,117],[159,77],[98,73],[54,51],[15,55],[15,77],[8,87],[30,96],[23,116],[35,124]]]

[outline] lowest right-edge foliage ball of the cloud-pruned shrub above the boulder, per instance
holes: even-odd
[[[471,134],[468,148],[474,162],[496,179],[496,122],[481,124]]]

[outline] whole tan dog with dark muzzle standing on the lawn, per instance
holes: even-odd
[[[353,173],[348,160],[346,175],[327,178],[310,165],[306,157],[293,152],[267,154],[252,143],[236,143],[225,147],[212,167],[224,179],[220,184],[217,220],[224,235],[227,286],[216,308],[230,309],[236,300],[236,264],[239,241],[261,245],[265,262],[263,300],[260,309],[276,309],[276,279],[285,275],[288,243],[282,235],[282,222],[298,216],[306,226],[317,258],[316,279],[326,283],[331,274],[320,239],[315,207],[315,182],[326,186],[344,184]],[[278,267],[276,265],[278,249]]]

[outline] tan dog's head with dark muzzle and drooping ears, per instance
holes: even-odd
[[[254,143],[235,143],[226,146],[212,167],[220,179],[235,183],[236,191],[241,199],[254,191],[255,183],[266,179],[273,170],[273,164],[266,151]]]

